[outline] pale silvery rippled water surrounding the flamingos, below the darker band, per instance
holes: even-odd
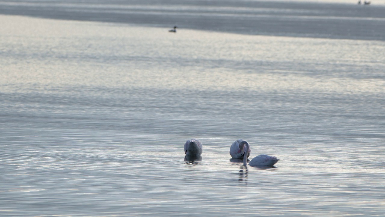
[[[385,215],[383,37],[0,20],[0,216]]]

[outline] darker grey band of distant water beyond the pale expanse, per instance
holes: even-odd
[[[268,36],[385,40],[385,0],[372,0],[369,6],[358,5],[358,0],[314,1],[0,0],[0,14]]]

